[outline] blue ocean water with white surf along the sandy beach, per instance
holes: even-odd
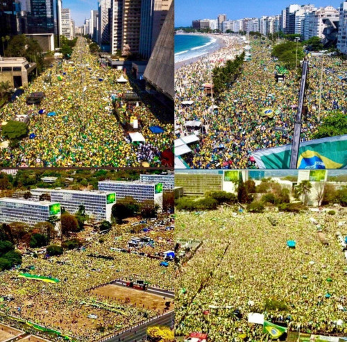
[[[217,40],[205,35],[175,35],[175,63],[196,58],[218,46]]]

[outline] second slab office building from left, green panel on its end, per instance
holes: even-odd
[[[78,212],[80,205],[97,221],[111,221],[112,206],[116,203],[115,191],[79,191],[54,189],[50,191],[51,202],[60,203],[70,214]]]

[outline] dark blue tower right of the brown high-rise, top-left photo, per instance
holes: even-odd
[[[149,58],[172,0],[142,0],[139,54]]]

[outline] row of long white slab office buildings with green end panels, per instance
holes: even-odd
[[[98,191],[71,189],[31,189],[18,191],[12,198],[0,198],[0,223],[23,222],[35,225],[60,217],[61,209],[74,214],[81,205],[97,222],[111,221],[117,200],[133,198],[139,203],[162,208],[163,191],[174,191],[174,175],[141,175],[135,182],[104,180]]]

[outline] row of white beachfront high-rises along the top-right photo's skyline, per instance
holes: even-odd
[[[285,34],[299,34],[302,40],[320,37],[324,43],[336,42],[337,49],[347,53],[347,1],[339,8],[314,5],[289,5],[280,15],[260,18],[228,20],[226,15],[217,19],[194,20],[193,28],[210,28],[222,32],[259,32],[262,35],[282,31]]]

